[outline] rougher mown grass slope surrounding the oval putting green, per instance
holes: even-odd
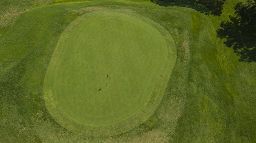
[[[0,29],[1,142],[256,142],[256,64],[239,62],[215,32],[240,0],[227,0],[220,16],[138,2],[56,4],[25,12]],[[42,98],[58,38],[77,17],[69,16],[71,10],[88,6],[149,17],[171,33],[177,46],[177,62],[157,111],[141,126],[113,137],[71,133],[52,119]]]

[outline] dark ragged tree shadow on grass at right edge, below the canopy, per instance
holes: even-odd
[[[229,17],[230,21],[222,21],[222,28],[217,29],[218,37],[227,40],[224,44],[234,49],[239,61],[256,62],[256,27],[240,17]]]

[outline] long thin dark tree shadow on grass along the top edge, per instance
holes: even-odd
[[[159,6],[181,6],[209,15],[221,15],[226,0],[151,0]]]

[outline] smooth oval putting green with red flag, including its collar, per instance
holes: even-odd
[[[62,126],[82,134],[118,134],[153,114],[176,51],[166,42],[170,35],[163,37],[153,21],[139,17],[91,12],[64,31],[44,81],[46,106]]]

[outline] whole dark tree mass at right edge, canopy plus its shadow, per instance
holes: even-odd
[[[224,44],[234,49],[240,61],[256,62],[256,0],[240,2],[234,9],[236,16],[222,21],[218,37],[227,40]]]

